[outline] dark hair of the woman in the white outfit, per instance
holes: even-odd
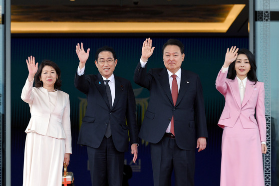
[[[35,87],[42,87],[43,86],[42,81],[40,81],[40,76],[41,76],[42,69],[45,66],[50,66],[50,67],[54,68],[54,70],[56,71],[56,74],[58,76],[58,79],[56,79],[56,81],[54,83],[54,88],[56,88],[58,90],[61,90],[61,88],[60,88],[61,85],[62,85],[62,81],[60,79],[61,78],[61,70],[56,63],[54,63],[53,61],[50,61],[50,60],[43,60],[41,62],[41,64],[39,65],[37,73],[34,77]]]

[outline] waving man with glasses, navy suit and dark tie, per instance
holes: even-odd
[[[77,143],[87,146],[92,186],[122,186],[128,130],[134,163],[138,154],[135,96],[131,82],[113,74],[117,59],[111,47],[96,51],[99,73],[84,75],[89,51],[84,51],[82,43],[76,46],[79,66],[74,85],[87,96]]]

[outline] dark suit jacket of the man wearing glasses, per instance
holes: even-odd
[[[112,140],[117,151],[128,150],[128,129],[131,143],[138,143],[135,96],[131,82],[118,76],[114,78],[115,99],[110,110],[101,74],[82,76],[76,74],[74,85],[87,96],[87,108],[82,119],[78,144],[98,148],[109,121]]]

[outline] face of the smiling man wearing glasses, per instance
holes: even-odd
[[[116,67],[117,59],[113,58],[113,54],[109,51],[102,51],[98,55],[98,60],[95,61],[95,65],[98,68],[100,74],[109,78]]]

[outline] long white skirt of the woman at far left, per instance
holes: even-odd
[[[65,139],[28,132],[25,141],[23,186],[61,186]]]

